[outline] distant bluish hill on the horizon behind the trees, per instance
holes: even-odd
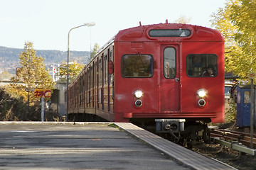
[[[36,50],[36,49],[35,49]],[[9,48],[0,46],[0,73],[9,72],[16,74],[16,68],[19,67],[19,55],[23,49]],[[67,62],[68,52],[59,50],[36,50],[36,55],[45,59],[46,68],[51,69],[55,64]],[[86,64],[90,60],[90,52],[70,51],[70,62],[75,61]]]

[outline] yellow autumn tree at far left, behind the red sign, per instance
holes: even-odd
[[[13,96],[22,97],[23,101],[28,101],[28,105],[33,105],[40,100],[34,96],[34,89],[53,89],[53,79],[46,70],[43,57],[36,56],[32,42],[25,42],[24,51],[19,55],[19,60],[21,67],[16,69],[16,77],[11,78],[12,83],[9,84],[8,91]]]

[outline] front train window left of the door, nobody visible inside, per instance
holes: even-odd
[[[151,55],[123,55],[122,77],[152,77],[153,57]]]

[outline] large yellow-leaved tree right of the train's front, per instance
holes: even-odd
[[[227,0],[213,14],[212,25],[225,37],[225,71],[247,79],[256,72],[256,1]]]

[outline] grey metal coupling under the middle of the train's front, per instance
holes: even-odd
[[[156,132],[184,131],[185,119],[155,119]]]

